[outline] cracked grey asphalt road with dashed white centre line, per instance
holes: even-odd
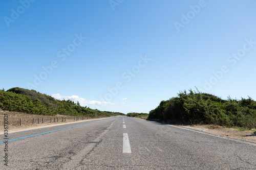
[[[0,169],[256,169],[256,143],[126,116],[16,132],[12,139],[8,167],[2,161]]]

